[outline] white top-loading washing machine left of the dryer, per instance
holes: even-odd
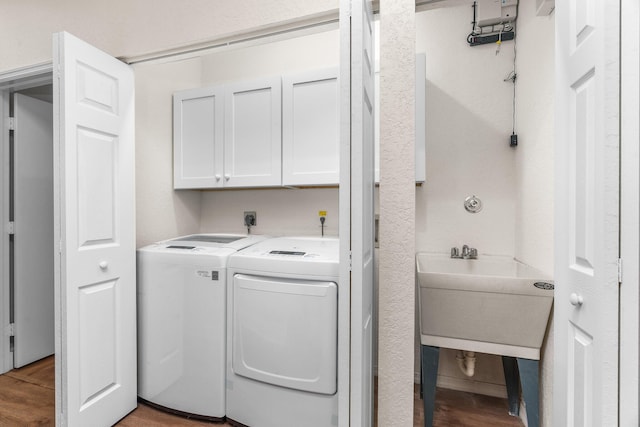
[[[265,238],[199,234],[138,250],[142,401],[189,417],[224,418],[227,260]]]

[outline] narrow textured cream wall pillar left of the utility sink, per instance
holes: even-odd
[[[413,425],[415,3],[380,2],[378,424]]]

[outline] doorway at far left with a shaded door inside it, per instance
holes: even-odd
[[[53,90],[2,91],[1,373],[54,353]]]

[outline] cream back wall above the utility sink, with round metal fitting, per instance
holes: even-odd
[[[416,189],[416,250],[513,255],[515,151],[509,148],[513,43],[469,47],[468,5],[420,12],[416,50],[427,57],[427,178]],[[480,213],[463,207],[467,196]]]

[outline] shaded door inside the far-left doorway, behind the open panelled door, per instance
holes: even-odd
[[[13,364],[53,354],[53,108],[14,95]]]

